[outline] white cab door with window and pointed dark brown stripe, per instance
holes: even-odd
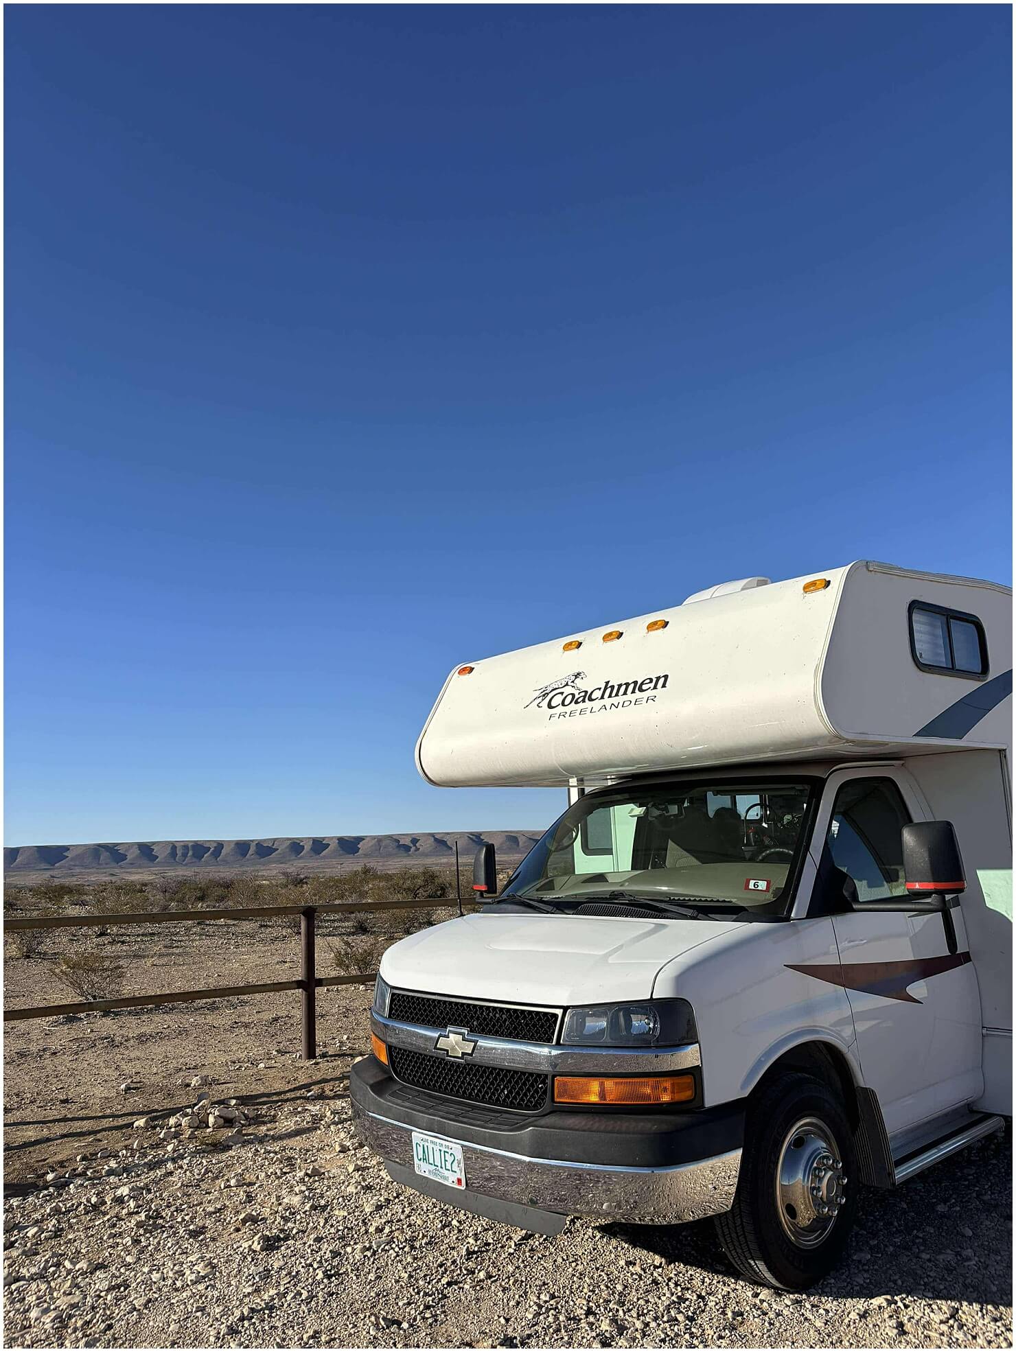
[[[927,817],[905,771],[844,769],[827,780],[816,827],[858,890],[854,910],[832,923],[864,1082],[890,1136],[978,1098],[984,1083],[981,998],[962,913],[950,911],[951,945],[940,913],[908,907],[900,830]],[[898,910],[866,910],[897,898]]]

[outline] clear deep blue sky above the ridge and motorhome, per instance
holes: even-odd
[[[4,20],[8,844],[536,827],[453,664],[1009,581],[1008,7]]]

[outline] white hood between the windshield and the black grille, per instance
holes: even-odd
[[[648,999],[657,972],[735,921],[465,915],[410,934],[382,959],[390,986],[517,1005]]]

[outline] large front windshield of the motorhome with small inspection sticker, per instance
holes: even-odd
[[[533,846],[502,894],[540,910],[675,914],[793,900],[812,786],[759,779],[617,787],[580,798]],[[620,903],[620,904],[618,904]]]

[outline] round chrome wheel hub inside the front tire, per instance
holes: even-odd
[[[817,1117],[802,1117],[783,1138],[777,1164],[777,1213],[787,1237],[812,1249],[829,1234],[846,1198],[836,1138]]]

